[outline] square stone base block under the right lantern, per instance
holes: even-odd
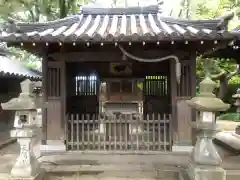
[[[219,166],[203,166],[190,163],[187,174],[190,180],[226,180],[226,171]]]

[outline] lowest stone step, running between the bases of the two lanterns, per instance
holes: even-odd
[[[44,165],[47,170],[44,180],[77,179],[162,179],[178,180],[180,167],[168,165],[101,164],[101,165]]]

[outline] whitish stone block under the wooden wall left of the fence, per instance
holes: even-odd
[[[66,152],[67,147],[62,141],[47,140],[46,145],[40,145],[40,151],[42,152]]]

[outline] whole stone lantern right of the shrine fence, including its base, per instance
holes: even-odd
[[[188,105],[200,113],[197,121],[192,122],[192,127],[198,131],[197,142],[188,167],[188,175],[193,180],[223,180],[225,177],[225,171],[220,167],[221,157],[212,139],[218,131],[215,112],[226,111],[230,105],[216,98],[212,93],[215,87],[216,83],[207,77],[200,83],[199,96],[187,100]]]

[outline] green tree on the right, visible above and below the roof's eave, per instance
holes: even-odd
[[[226,12],[240,7],[240,2],[236,0],[199,0],[191,1],[182,0],[179,17],[192,19],[213,19],[221,16]],[[235,19],[234,25],[239,24],[238,19]],[[233,60],[219,58],[197,58],[197,80],[201,81],[206,74],[209,74],[213,80],[217,81],[219,88],[217,95],[219,98],[224,98],[228,92],[229,81],[236,75],[240,74],[240,68]]]

